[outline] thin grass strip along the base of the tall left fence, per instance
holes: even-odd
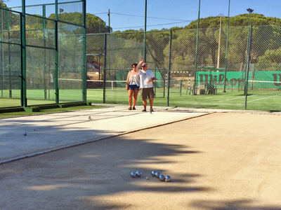
[[[10,113],[0,113],[0,118],[14,118],[20,116],[44,115],[48,113],[59,113],[59,112],[77,111],[77,110],[86,110],[86,109],[100,109],[102,107],[103,106],[70,106],[65,108],[42,109],[39,112],[16,111]]]

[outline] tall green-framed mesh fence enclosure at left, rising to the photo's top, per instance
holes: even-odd
[[[86,100],[83,3],[0,9],[0,108]]]

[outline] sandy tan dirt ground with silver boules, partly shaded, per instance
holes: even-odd
[[[280,125],[211,113],[8,162],[0,209],[281,209]]]

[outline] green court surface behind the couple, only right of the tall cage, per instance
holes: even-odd
[[[156,88],[155,106],[168,106],[168,93],[162,88]],[[141,92],[138,94],[137,105],[142,105]],[[87,99],[93,103],[103,103],[103,89],[87,90]],[[187,108],[207,108],[207,109],[245,109],[244,91],[237,90],[218,90],[217,94],[192,95],[192,93],[178,89],[170,89],[169,106],[187,107]],[[114,90],[106,89],[106,104],[128,104],[128,94],[123,88]],[[281,92],[268,90],[248,91],[247,110],[255,111],[281,111]]]

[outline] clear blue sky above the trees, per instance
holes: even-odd
[[[67,0],[59,0],[64,2]],[[8,7],[21,6],[22,0],[9,0]],[[55,0],[26,0],[26,5],[55,3]],[[36,2],[36,3],[34,3]],[[209,16],[228,16],[229,0],[201,0],[200,18]],[[147,0],[147,30],[184,27],[190,21],[197,20],[199,0]],[[247,13],[247,8],[266,17],[281,18],[281,0],[230,0],[230,17]],[[110,9],[110,27],[113,31],[126,29],[144,29],[145,0],[87,0],[86,13],[95,14],[108,25]]]

